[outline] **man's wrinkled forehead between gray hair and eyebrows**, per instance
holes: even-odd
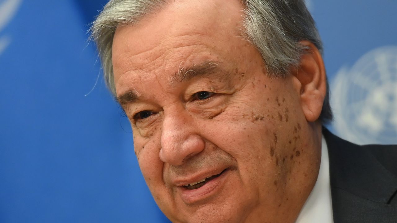
[[[116,89],[125,74],[144,78],[148,73],[171,74],[181,64],[217,61],[245,42],[241,20],[237,0],[185,0],[166,5],[137,25],[118,27],[112,51]]]

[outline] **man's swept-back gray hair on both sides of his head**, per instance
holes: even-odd
[[[299,66],[306,48],[301,40],[312,42],[322,53],[322,42],[304,0],[240,0],[245,13],[245,35],[260,52],[268,74],[284,77],[291,67]],[[90,29],[102,61],[106,85],[116,95],[112,66],[112,42],[116,28],[137,24],[139,20],[160,10],[167,0],[110,0],[96,17]],[[322,123],[332,120],[330,93],[320,114]]]

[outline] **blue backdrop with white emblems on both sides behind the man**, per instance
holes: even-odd
[[[168,222],[145,185],[129,123],[98,78],[100,64],[87,42],[88,24],[106,2],[0,0],[2,223]],[[397,143],[397,2],[308,5],[324,40],[332,89],[348,84],[347,94],[359,95],[335,92],[330,127],[357,143],[368,134],[373,143]],[[368,93],[375,85],[381,90]],[[386,118],[379,124],[380,114]],[[361,139],[347,135],[360,131]]]

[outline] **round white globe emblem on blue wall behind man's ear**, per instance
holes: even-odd
[[[357,144],[397,144],[397,46],[366,53],[331,83],[337,134]]]

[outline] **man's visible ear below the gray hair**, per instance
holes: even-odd
[[[327,91],[326,71],[320,51],[309,41],[300,42],[306,46],[298,67],[292,68],[294,88],[299,94],[301,107],[308,122],[315,122],[320,116]]]

